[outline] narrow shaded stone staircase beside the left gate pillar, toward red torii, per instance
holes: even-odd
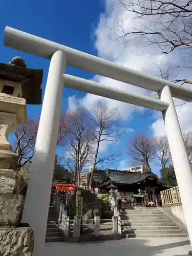
[[[45,242],[60,242],[60,241],[62,241],[62,236],[60,233],[57,216],[56,216],[54,207],[50,206]]]

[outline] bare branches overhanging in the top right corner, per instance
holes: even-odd
[[[126,31],[122,20],[119,38],[140,36],[147,45],[158,45],[162,53],[192,46],[191,1],[119,0],[119,3],[144,24],[139,29]]]

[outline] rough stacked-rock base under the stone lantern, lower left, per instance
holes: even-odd
[[[16,175],[13,175],[13,170],[0,169],[1,256],[31,256],[33,252],[33,230],[28,224],[20,224],[23,196],[14,194],[16,186]]]

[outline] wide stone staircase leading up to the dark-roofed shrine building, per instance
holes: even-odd
[[[122,234],[126,238],[187,237],[188,234],[170,220],[160,208],[122,210]]]

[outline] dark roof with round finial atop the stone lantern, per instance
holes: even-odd
[[[20,57],[14,57],[9,65],[0,63],[0,79],[21,82],[22,97],[26,99],[27,104],[41,104],[42,75],[42,70],[28,69]]]

